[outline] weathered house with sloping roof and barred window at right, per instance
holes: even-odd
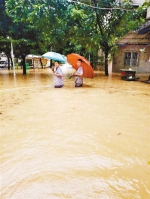
[[[147,10],[150,19],[150,8]],[[113,59],[113,72],[131,68],[139,73],[150,73],[150,21],[137,31],[131,31],[116,44],[118,53]]]

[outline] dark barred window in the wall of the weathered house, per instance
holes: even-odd
[[[125,52],[124,66],[137,66],[138,53],[137,52]]]

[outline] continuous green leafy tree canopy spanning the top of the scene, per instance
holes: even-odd
[[[6,51],[6,44],[10,46],[9,36],[18,57],[43,54],[52,47],[65,55],[76,52],[88,58],[90,54],[94,66],[99,48],[105,56],[115,53],[117,39],[145,22],[149,3],[138,9],[131,3],[131,0],[125,0],[123,4],[116,0],[80,0],[76,3],[68,0],[6,0],[5,6],[0,7],[0,39],[5,40],[0,40],[0,48]],[[107,62],[105,64],[107,67]]]

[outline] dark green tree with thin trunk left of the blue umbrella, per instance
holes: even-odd
[[[33,1],[37,3],[37,1]],[[34,20],[31,20],[30,14],[34,13],[34,4],[30,0],[6,1],[6,14],[11,19],[7,23],[9,29],[7,35],[13,42],[15,56],[21,57],[23,63],[23,74],[26,74],[25,57],[29,53],[41,54],[46,47],[44,41],[44,33],[41,28],[34,25]],[[5,34],[6,36],[6,34]]]

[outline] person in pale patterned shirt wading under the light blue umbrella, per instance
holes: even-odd
[[[62,88],[64,86],[64,78],[59,66],[59,61],[55,61],[55,66],[52,68],[52,71],[54,74],[54,88]]]

